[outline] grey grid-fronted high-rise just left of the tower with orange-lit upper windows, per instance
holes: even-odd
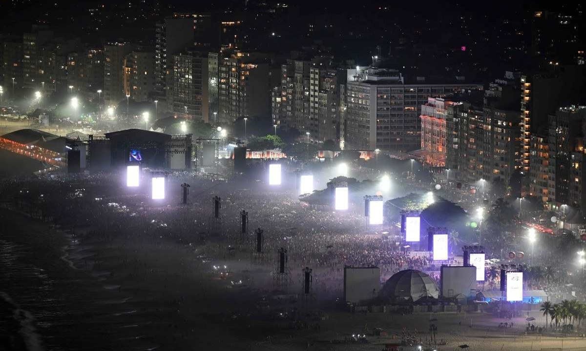
[[[173,108],[175,115],[209,122],[207,53],[186,50],[173,56]]]

